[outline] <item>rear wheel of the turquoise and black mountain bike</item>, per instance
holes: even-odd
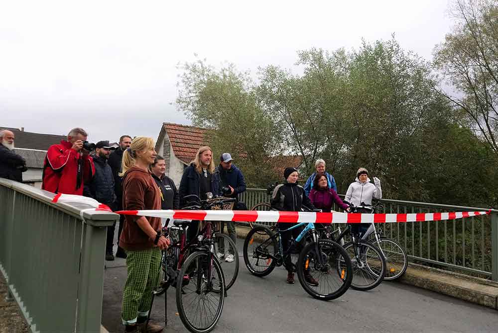
[[[244,262],[252,275],[266,276],[275,268],[272,256],[278,253],[276,238],[263,226],[249,231],[244,241]]]

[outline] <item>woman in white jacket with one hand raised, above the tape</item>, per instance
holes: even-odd
[[[345,200],[355,206],[364,203],[367,206],[372,205],[372,198],[381,199],[382,189],[380,188],[380,179],[373,177],[373,183],[370,182],[369,171],[361,167],[356,173],[356,181],[349,185],[346,192]]]

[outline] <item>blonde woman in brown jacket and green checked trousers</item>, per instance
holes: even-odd
[[[123,153],[124,210],[161,209],[160,191],[149,172],[156,157],[154,140],[136,137]],[[163,327],[146,323],[152,303],[152,290],[158,282],[161,250],[169,240],[160,236],[161,219],[125,217],[120,247],[127,254],[128,275],[123,291],[121,319],[125,332],[160,332]],[[147,325],[147,327],[144,327]]]

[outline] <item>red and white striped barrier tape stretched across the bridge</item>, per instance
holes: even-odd
[[[95,210],[112,211],[108,206],[92,198],[57,194],[52,202],[86,203]],[[254,210],[122,210],[116,214],[160,217],[174,220],[234,221],[234,222],[280,222],[280,223],[400,223],[443,221],[461,219],[470,216],[490,214],[482,212],[452,213],[412,213],[412,214],[360,214],[360,213],[315,213],[315,212],[280,212]]]

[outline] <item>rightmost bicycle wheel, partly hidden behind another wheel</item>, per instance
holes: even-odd
[[[373,238],[370,243],[380,247],[384,254],[386,264],[384,280],[394,281],[403,276],[406,267],[408,267],[408,256],[403,247],[398,242],[386,237],[381,237],[379,243]]]

